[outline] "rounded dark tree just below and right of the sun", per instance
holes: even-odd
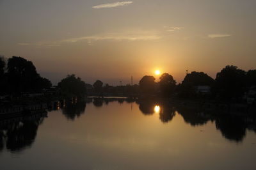
[[[168,73],[163,73],[160,77],[160,89],[164,96],[169,96],[175,89],[176,81],[173,79],[172,75]]]

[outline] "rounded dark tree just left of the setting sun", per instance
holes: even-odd
[[[156,79],[151,75],[145,75],[144,77],[142,77],[142,79],[139,82],[141,92],[144,94],[154,93],[156,84],[155,80]]]

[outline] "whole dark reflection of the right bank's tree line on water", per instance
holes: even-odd
[[[160,111],[157,114],[159,114],[159,119],[163,123],[172,121],[175,111],[179,112],[184,121],[193,127],[205,125],[208,121],[215,121],[216,128],[220,130],[223,137],[230,141],[243,141],[246,129],[256,132],[255,116],[207,114],[196,107],[188,107],[186,105],[173,107],[173,105],[166,102],[156,102],[154,100],[138,100],[136,104],[139,105],[140,111],[145,115],[154,114],[154,108],[159,105]]]

